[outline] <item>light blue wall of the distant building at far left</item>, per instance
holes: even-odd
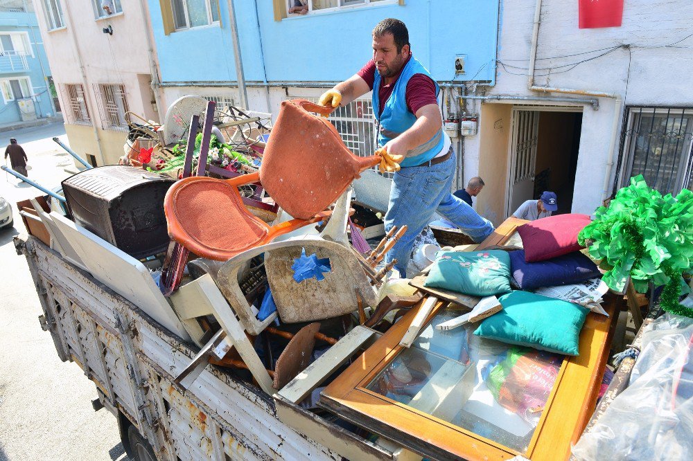
[[[0,78],[3,80],[6,78],[30,78],[35,94],[34,107],[37,117],[55,116],[51,107],[51,93],[46,87],[46,80],[44,80],[44,75],[41,71],[41,64],[43,64],[46,76],[51,75],[35,13],[0,12],[0,32],[27,32],[34,54],[33,57],[30,55],[26,56],[28,70],[12,73],[0,71]],[[5,105],[3,98],[0,96],[0,124],[19,121],[21,121],[21,116],[17,102],[10,101]]]

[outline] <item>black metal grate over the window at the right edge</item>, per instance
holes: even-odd
[[[622,186],[642,174],[663,194],[690,188],[693,169],[693,109],[629,107],[623,132]]]

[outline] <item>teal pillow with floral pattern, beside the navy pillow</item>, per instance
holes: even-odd
[[[510,256],[507,251],[439,251],[423,286],[471,296],[508,293]]]

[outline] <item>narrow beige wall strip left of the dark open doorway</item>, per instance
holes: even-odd
[[[479,176],[486,186],[476,197],[477,212],[495,226],[505,220],[508,140],[512,106],[484,104],[479,126]]]

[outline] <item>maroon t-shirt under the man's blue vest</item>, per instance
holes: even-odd
[[[407,62],[409,62],[410,59],[412,59],[411,55],[409,56],[409,59],[407,59]],[[407,65],[407,62],[404,63],[405,66]],[[402,66],[402,69],[404,69],[404,66]],[[380,80],[380,88],[378,89],[378,102],[380,102],[380,107],[378,107],[378,116],[383,114],[385,101],[387,101],[387,98],[389,98],[389,96],[392,94],[394,85],[401,73],[402,70],[400,69],[394,81],[389,85],[383,84],[383,80]],[[363,66],[360,71],[358,71],[358,76],[362,78],[372,90],[373,84],[376,80],[376,63],[374,60],[367,62],[366,65]],[[436,98],[435,95],[435,82],[433,82],[428,75],[424,75],[423,73],[415,73],[412,75],[412,78],[410,78],[409,82],[407,82],[407,91],[405,92],[405,95],[407,100],[407,109],[409,109],[412,114],[416,114],[416,111],[421,109],[423,106],[427,106],[429,104],[438,104],[438,98]]]

